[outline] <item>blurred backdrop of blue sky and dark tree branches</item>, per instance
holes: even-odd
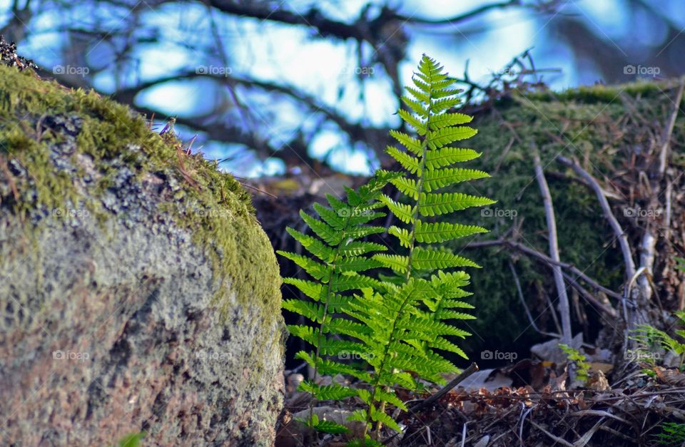
[[[680,75],[684,27],[682,0],[0,0],[41,75],[175,117],[243,177],[372,172],[422,53],[477,102]]]

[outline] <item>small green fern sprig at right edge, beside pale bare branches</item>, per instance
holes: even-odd
[[[679,324],[685,325],[685,311],[676,311],[674,314],[678,317]],[[685,330],[678,329],[675,333],[685,339]],[[679,357],[679,368],[683,368],[685,344],[666,334],[666,332],[651,327],[649,324],[639,324],[632,332],[630,339],[637,342],[636,349],[629,353],[631,358],[634,357],[646,363],[655,364],[656,360],[659,359],[657,351],[663,349],[666,352],[670,351],[676,354]]]

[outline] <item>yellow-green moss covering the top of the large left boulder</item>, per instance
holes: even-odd
[[[68,170],[57,170],[52,163],[51,146],[64,142],[61,135],[41,132],[37,125],[59,115],[81,118],[71,157],[88,155],[99,173],[86,195]],[[108,163],[111,160],[124,160],[139,180],[148,174],[165,177],[178,187],[160,211],[177,227],[190,230],[193,241],[205,248],[214,263],[215,280],[227,277],[231,283],[215,297],[219,307],[228,309],[229,292],[237,292],[238,302],[263,309],[266,321],[280,315],[278,264],[248,193],[202,155],[186,155],[173,133],[150,130],[146,120],[126,106],[0,66],[0,157],[0,163],[18,164],[28,174],[11,178],[19,200],[14,194],[0,197],[2,207],[24,217],[32,210],[84,202],[106,219],[98,197],[113,183],[116,169]]]

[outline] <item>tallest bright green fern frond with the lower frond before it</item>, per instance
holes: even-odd
[[[494,203],[460,192],[437,192],[488,175],[455,166],[480,154],[450,146],[476,133],[461,125],[469,123],[470,116],[448,112],[459,103],[455,96],[458,91],[451,88],[454,81],[427,56],[423,56],[418,70],[413,78],[415,88],[407,88],[408,96],[402,98],[409,110],[398,112],[417,135],[393,130],[390,135],[404,150],[387,148],[387,154],[402,167],[400,177],[390,178],[402,199],[380,196],[380,202],[397,220],[388,233],[405,252],[373,255],[372,260],[390,269],[392,275],[382,277],[377,287],[355,294],[342,308],[342,312],[367,327],[364,336],[357,339],[370,354],[371,391],[358,396],[367,406],[365,421],[375,423],[376,433],[384,425],[400,430],[385,413],[387,404],[405,409],[392,392],[396,386],[417,389],[415,376],[442,384],[442,374],[459,370],[440,352],[466,358],[450,339],[470,334],[450,321],[473,318],[455,310],[472,308],[460,300],[468,295],[462,287],[468,284],[469,275],[443,269],[478,266],[442,245],[486,230],[445,219],[468,207]],[[433,217],[440,220],[435,222]]]

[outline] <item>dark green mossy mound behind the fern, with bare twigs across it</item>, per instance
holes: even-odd
[[[492,230],[478,240],[504,238],[515,240],[544,254],[549,253],[547,225],[542,196],[534,178],[531,145],[542,158],[542,166],[552,192],[562,262],[574,264],[583,272],[614,291],[624,284],[624,264],[616,237],[594,192],[577,180],[577,176],[555,159],[559,155],[575,158],[579,164],[612,192],[609,202],[621,226],[628,232],[631,245],[639,247],[640,228],[654,218],[646,211],[644,179],[640,179],[641,160],[654,153],[663,137],[666,122],[674,110],[674,98],[679,82],[637,82],[621,86],[587,86],[562,93],[551,91],[509,92],[505,99],[476,113],[473,127],[478,134],[467,146],[483,155],[472,168],[486,170],[492,178],[479,180],[462,192],[484,195],[497,200],[487,210],[470,210],[460,216],[460,222],[476,223]],[[673,156],[671,172],[674,190],[682,188],[678,175],[685,168],[682,142],[685,139],[685,116],[680,113],[671,139]],[[658,150],[656,151],[658,153]],[[472,189],[470,189],[472,187]],[[467,188],[467,189],[465,189]],[[679,198],[678,198],[679,197]],[[673,224],[676,237],[659,242],[659,259],[654,272],[655,282],[664,307],[678,306],[678,284],[664,277],[664,265],[682,250],[682,197],[674,200]],[[676,211],[677,210],[677,211]],[[457,242],[457,249],[463,241]],[[471,269],[474,292],[472,303],[478,319],[470,326],[477,336],[467,341],[470,355],[483,362],[480,352],[518,351],[519,359],[527,355],[527,346],[544,337],[532,329],[518,297],[509,261],[522,282],[524,299],[539,328],[557,332],[547,309],[556,308],[557,293],[549,267],[534,258],[506,247],[482,248],[463,252],[482,265]],[[637,259],[639,253],[633,254]],[[600,299],[601,292],[584,287]],[[583,329],[584,339],[594,341],[601,327],[614,327],[582,297],[569,287],[574,327]],[[547,299],[545,297],[549,297]],[[611,298],[614,308],[619,304]],[[553,303],[553,304],[550,304]],[[578,309],[580,312],[575,312]],[[584,314],[579,318],[579,314]],[[487,365],[487,361],[483,362]],[[497,362],[501,364],[501,361]]]

